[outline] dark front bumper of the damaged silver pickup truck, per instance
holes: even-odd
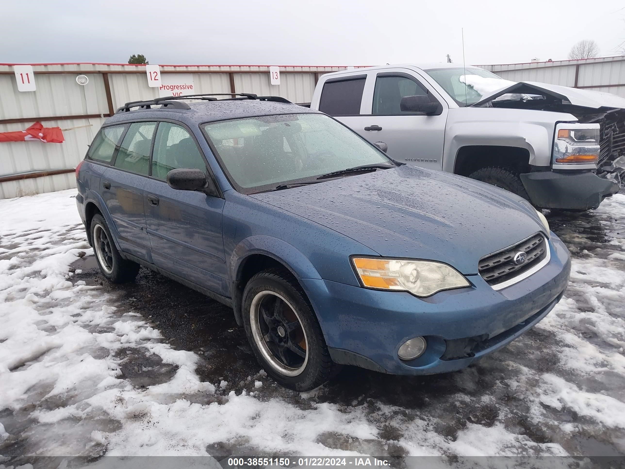
[[[619,191],[618,184],[586,173],[539,171],[521,174],[521,181],[532,204],[540,208],[589,210]]]

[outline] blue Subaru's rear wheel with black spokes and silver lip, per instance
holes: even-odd
[[[98,261],[102,275],[113,283],[125,283],[134,280],[139,273],[139,264],[127,261],[119,255],[104,218],[99,214],[94,215],[89,228],[91,229],[93,252],[96,255],[96,261]]]

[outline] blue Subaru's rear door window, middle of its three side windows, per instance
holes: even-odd
[[[150,148],[154,128],[156,128],[154,122],[131,124],[119,147],[114,166],[147,176],[150,168]]]

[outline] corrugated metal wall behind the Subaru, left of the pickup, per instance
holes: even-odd
[[[237,93],[271,94],[294,103],[311,101],[317,76],[345,68],[281,66],[281,84],[273,86],[269,66],[160,66],[162,74],[191,73],[194,93],[231,93],[232,76]],[[84,158],[111,107],[114,111],[128,101],[159,96],[158,88],[148,86],[143,66],[34,64],[33,69],[37,91],[21,93],[17,91],[12,65],[0,64],[0,132],[19,131],[41,120],[46,127],[68,129],[63,132],[65,141],[0,143],[0,179],[74,168]],[[76,83],[79,74],[88,76],[86,86]],[[64,119],[51,119],[54,117]],[[0,198],[58,191],[73,188],[75,184],[73,173],[0,181]]]

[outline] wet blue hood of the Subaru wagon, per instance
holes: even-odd
[[[251,197],[381,256],[441,261],[465,275],[477,273],[483,256],[544,231],[536,211],[515,194],[406,165]]]

